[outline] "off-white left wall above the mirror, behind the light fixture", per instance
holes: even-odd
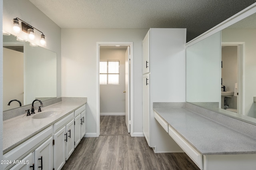
[[[12,30],[12,21],[20,18],[42,31],[46,36],[47,47],[57,53],[57,97],[61,97],[61,30],[50,18],[42,13],[29,0],[3,0],[3,30]]]

